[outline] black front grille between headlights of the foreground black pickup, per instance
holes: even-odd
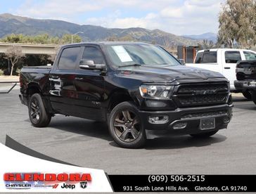
[[[174,91],[178,107],[193,107],[225,103],[229,93],[227,83],[181,84]]]

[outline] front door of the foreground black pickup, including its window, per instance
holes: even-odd
[[[105,58],[99,46],[85,46],[81,60],[93,60],[94,64],[105,64]],[[79,69],[75,76],[74,88],[77,98],[76,116],[94,120],[105,120],[103,101],[105,94],[105,75],[101,70]]]

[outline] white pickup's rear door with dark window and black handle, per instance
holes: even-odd
[[[242,51],[223,51],[223,75],[229,79],[231,90],[235,89],[234,81],[236,80],[236,63],[242,60]]]

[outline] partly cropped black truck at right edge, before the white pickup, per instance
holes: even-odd
[[[236,89],[250,93],[256,104],[256,60],[241,60],[236,64]]]

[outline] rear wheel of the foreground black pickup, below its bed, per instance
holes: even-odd
[[[28,113],[30,122],[34,127],[46,127],[51,122],[51,115],[46,112],[39,93],[34,93],[31,96]]]

